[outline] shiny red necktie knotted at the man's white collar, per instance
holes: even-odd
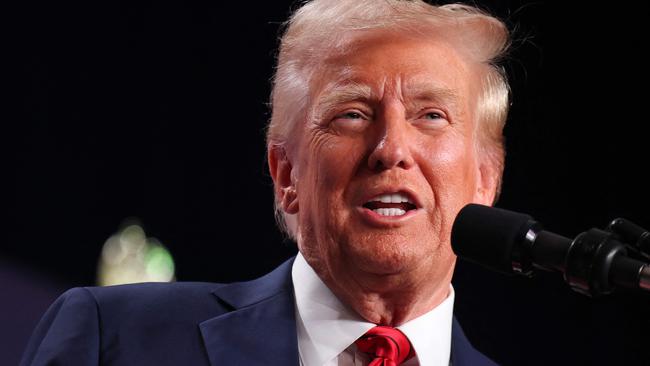
[[[411,342],[396,328],[376,326],[354,342],[373,357],[368,366],[398,366],[413,356]]]

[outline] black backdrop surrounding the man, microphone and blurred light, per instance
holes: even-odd
[[[104,241],[138,218],[183,281],[261,275],[275,228],[264,127],[291,1],[25,2],[7,12],[0,359],[63,289],[92,285]],[[573,237],[650,228],[646,9],[481,1],[515,29],[498,206]],[[456,315],[504,365],[648,365],[646,294],[589,299],[557,274],[459,263]]]

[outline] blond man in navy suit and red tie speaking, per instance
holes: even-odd
[[[498,192],[507,39],[466,6],[304,5],[268,129],[295,261],[246,283],[73,289],[23,364],[493,364],[453,321],[449,237],[465,204]]]

